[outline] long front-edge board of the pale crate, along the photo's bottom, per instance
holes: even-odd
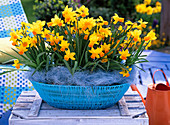
[[[10,125],[148,125],[147,118],[49,118],[39,120],[16,119],[12,117]]]

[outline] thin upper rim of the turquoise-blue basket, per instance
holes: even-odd
[[[127,86],[129,85],[130,86],[130,83],[122,83],[120,85],[111,85],[111,86],[77,86],[77,85],[54,85],[54,84],[46,84],[46,83],[43,83],[43,82],[36,82],[36,81],[32,81],[30,80],[30,82],[33,84],[33,83],[36,83],[36,84],[39,84],[39,85],[46,85],[46,86],[49,86],[49,87],[52,87],[52,86],[60,86],[60,87],[77,87],[77,88],[84,88],[84,87],[99,87],[99,88],[103,88],[103,87],[107,87],[107,88],[111,88],[111,87],[114,87],[114,86]]]

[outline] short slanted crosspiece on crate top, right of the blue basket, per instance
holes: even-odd
[[[120,115],[121,116],[129,116],[130,115],[124,97],[122,97],[122,99],[119,100],[118,106],[119,106],[119,110],[120,110]]]

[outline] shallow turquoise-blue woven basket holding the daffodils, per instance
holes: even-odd
[[[113,86],[67,86],[31,81],[47,104],[61,109],[105,109],[117,103],[130,84]]]

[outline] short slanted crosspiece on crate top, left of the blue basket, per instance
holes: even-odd
[[[37,93],[34,98],[33,104],[31,106],[30,112],[28,113],[28,117],[37,117],[38,116],[41,103],[42,103],[42,99],[41,99],[40,95]]]

